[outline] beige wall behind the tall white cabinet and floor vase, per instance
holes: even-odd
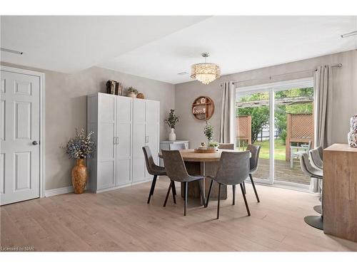
[[[71,185],[73,159],[68,159],[64,150],[75,128],[86,129],[86,95],[106,92],[106,81],[117,80],[124,87],[134,86],[144,93],[146,99],[160,101],[160,138],[166,139],[168,129],[164,118],[174,108],[174,85],[114,70],[93,67],[78,73],[66,74],[49,70],[38,70],[24,66],[14,66],[37,70],[46,74],[46,190]]]

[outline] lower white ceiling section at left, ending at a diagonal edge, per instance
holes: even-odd
[[[144,46],[203,16],[1,16],[1,61],[71,73]]]

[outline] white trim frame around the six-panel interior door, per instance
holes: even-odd
[[[14,68],[9,66],[0,66],[0,70],[9,71],[11,73],[19,73],[24,75],[32,75],[40,79],[40,129],[39,129],[39,197],[45,197],[45,73],[40,73],[34,70],[26,70],[22,68]]]

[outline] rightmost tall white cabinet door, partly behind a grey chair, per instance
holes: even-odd
[[[159,102],[146,100],[146,129],[145,129],[146,145],[150,147],[155,164],[159,165]],[[146,171],[145,177],[151,178],[151,175]]]

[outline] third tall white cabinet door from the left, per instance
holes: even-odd
[[[133,182],[141,182],[145,177],[145,100],[133,100]]]

